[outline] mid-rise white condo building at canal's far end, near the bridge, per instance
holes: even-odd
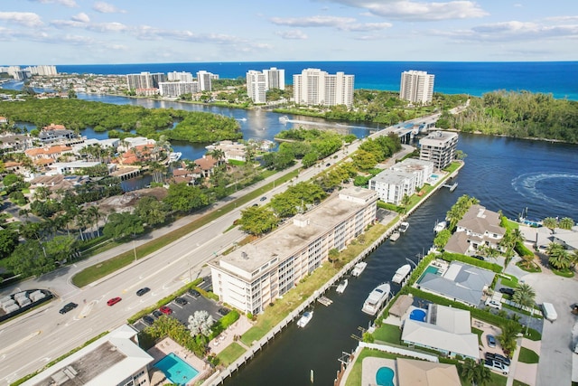
[[[450,131],[434,131],[419,140],[419,159],[433,162],[433,167],[443,169],[455,158],[458,134]]]

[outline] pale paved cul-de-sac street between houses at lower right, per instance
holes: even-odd
[[[537,386],[570,385],[572,379],[573,325],[576,316],[571,306],[578,301],[578,280],[554,275],[547,268],[520,280],[536,290],[536,303],[552,303],[558,314],[554,322],[544,322],[542,348],[538,363]]]

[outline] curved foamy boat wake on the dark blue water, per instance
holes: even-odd
[[[562,180],[563,182],[560,183],[560,181],[558,181],[558,183],[555,183],[554,181],[548,181],[554,179]],[[531,199],[533,201],[539,200],[542,202],[547,202],[549,205],[555,205],[564,208],[568,205],[568,202],[562,202],[560,200],[556,200],[555,198],[549,197],[547,195],[548,190],[540,189],[539,185],[545,185],[545,182],[547,181],[547,186],[549,186],[548,189],[553,189],[555,186],[557,186],[558,189],[564,189],[570,192],[572,189],[570,189],[568,186],[569,180],[575,180],[570,181],[570,184],[578,184],[578,174],[544,172],[527,173],[518,175],[516,178],[514,178],[512,180],[512,187],[517,193],[520,193],[527,199]],[[556,195],[559,196],[559,194]]]

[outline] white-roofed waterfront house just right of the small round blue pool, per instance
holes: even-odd
[[[410,346],[439,351],[453,358],[480,359],[478,335],[471,333],[468,310],[430,304],[424,322],[407,318],[401,340]]]

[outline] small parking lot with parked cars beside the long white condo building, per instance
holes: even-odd
[[[199,287],[205,291],[210,291],[212,289],[210,278],[205,278],[205,281],[203,281]],[[207,311],[214,320],[219,320],[221,317],[223,317],[223,315],[219,314],[219,309],[225,308],[219,304],[219,302],[211,300],[207,297],[203,297],[199,292],[194,290],[186,292],[181,297],[172,300],[172,302],[166,304],[165,306],[168,306],[172,310],[172,314],[169,316],[176,318],[183,325],[189,324],[189,316],[193,315],[196,311]],[[225,313],[223,312],[223,314]],[[163,313],[157,309],[154,311],[154,313],[151,313],[148,316],[155,320],[161,315],[163,315]],[[141,318],[136,321],[133,326],[138,331],[142,331],[147,326],[147,324],[143,318]]]

